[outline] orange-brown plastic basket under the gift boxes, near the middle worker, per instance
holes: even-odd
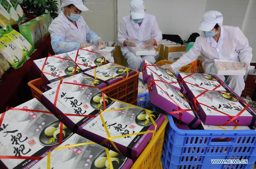
[[[139,83],[139,72],[116,82],[115,84],[109,85],[100,89],[108,97],[117,99],[126,103],[137,105],[138,97],[138,83]],[[32,96],[37,98],[41,102],[42,86],[45,85],[42,78],[38,78],[28,82],[30,86]]]

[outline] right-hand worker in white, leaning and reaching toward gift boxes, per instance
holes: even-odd
[[[252,48],[239,27],[222,26],[223,16],[218,11],[204,14],[199,30],[204,34],[196,38],[193,47],[166,69],[177,72],[203,53],[205,73],[216,74],[214,59],[240,61],[248,69],[252,59]],[[225,76],[218,76],[223,82]],[[226,76],[227,77],[227,76]],[[243,76],[228,76],[227,83],[239,96],[245,83]]]

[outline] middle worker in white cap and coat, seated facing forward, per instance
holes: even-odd
[[[145,44],[145,48],[158,46],[162,40],[156,18],[145,14],[145,4],[142,0],[132,0],[131,15],[123,17],[117,34],[117,41],[121,45],[122,54],[127,59],[129,68],[139,70],[144,59],[155,63],[154,55],[136,56],[127,46]]]

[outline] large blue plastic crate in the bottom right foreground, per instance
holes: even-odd
[[[255,130],[181,130],[167,115],[163,143],[165,168],[172,169],[251,169],[256,160]],[[230,138],[212,142],[213,138]],[[248,164],[212,164],[211,159],[247,159]]]

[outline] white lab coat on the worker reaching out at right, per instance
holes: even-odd
[[[181,67],[193,62],[203,53],[203,68],[205,73],[210,73],[210,67],[214,59],[232,60],[245,62],[250,65],[252,59],[252,48],[247,38],[239,27],[222,26],[218,43],[204,34],[196,38],[193,47],[174,62],[171,67],[177,72]]]

